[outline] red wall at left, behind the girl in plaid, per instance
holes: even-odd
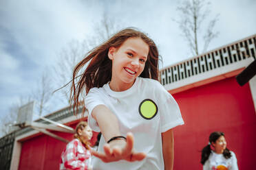
[[[70,125],[76,127],[76,123]],[[67,138],[72,141],[73,135],[63,132],[54,132],[58,136]],[[96,133],[91,140],[96,141]],[[43,169],[59,169],[61,152],[65,148],[66,143],[56,140],[45,134],[35,136],[22,143],[21,158],[19,161],[19,170],[43,170]]]

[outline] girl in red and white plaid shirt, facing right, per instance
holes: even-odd
[[[67,144],[61,154],[60,169],[83,169],[90,170],[91,154],[89,140],[92,138],[92,129],[87,122],[81,121],[76,125],[74,139]]]

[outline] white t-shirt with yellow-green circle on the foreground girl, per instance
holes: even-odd
[[[147,157],[136,162],[120,160],[110,163],[93,158],[94,170],[164,169],[161,133],[184,124],[184,121],[178,104],[162,84],[137,77],[134,85],[122,92],[111,90],[109,84],[89,90],[85,97],[85,108],[89,112],[89,126],[96,132],[100,129],[92,118],[92,110],[100,104],[116,115],[122,136],[126,136],[127,132],[134,134],[134,148],[147,154]],[[104,138],[100,138],[98,151],[103,151],[104,144]]]

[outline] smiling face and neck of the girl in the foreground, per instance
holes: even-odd
[[[112,60],[112,77],[109,84],[115,91],[130,88],[136,77],[145,68],[149,45],[141,38],[128,38],[119,48],[109,48],[109,59]]]

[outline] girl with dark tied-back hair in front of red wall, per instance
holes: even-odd
[[[204,170],[238,170],[237,158],[226,148],[223,132],[211,133],[209,144],[202,149],[201,163]]]

